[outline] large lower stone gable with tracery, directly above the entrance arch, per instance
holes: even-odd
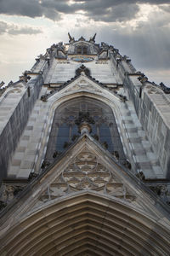
[[[38,209],[56,203],[65,197],[85,192],[95,192],[110,197],[113,201],[135,207],[145,214],[157,216],[164,204],[132,173],[126,171],[111,154],[87,134],[80,137],[71,148],[37,177],[34,183],[23,191],[18,204],[20,210],[13,214],[16,219],[36,212]],[[25,193],[24,193],[25,192]],[[24,203],[21,206],[20,202]],[[19,212],[18,212],[19,211]],[[14,209],[13,211],[14,212]],[[10,214],[10,211],[8,211]],[[7,216],[8,218],[8,216]]]

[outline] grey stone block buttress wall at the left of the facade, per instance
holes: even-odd
[[[42,76],[37,75],[26,86],[22,82],[15,83],[1,98],[0,179],[7,176],[8,162],[24,131],[41,87]]]

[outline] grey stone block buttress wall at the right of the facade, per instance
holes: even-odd
[[[164,176],[170,177],[170,95],[158,86],[139,82],[139,75],[127,75],[125,86]],[[159,170],[155,170],[159,174]]]

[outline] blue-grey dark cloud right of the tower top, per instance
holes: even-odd
[[[158,24],[158,25],[157,25]],[[128,55],[137,68],[169,69],[170,67],[170,27],[162,28],[160,20],[154,26],[140,24],[135,30],[112,29],[112,26],[99,29],[97,39],[104,40]]]

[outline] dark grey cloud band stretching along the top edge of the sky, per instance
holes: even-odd
[[[113,22],[133,19],[139,11],[138,3],[162,5],[169,0],[75,0],[73,4],[68,0],[0,0],[0,13],[59,20],[60,14],[75,14],[83,10],[90,19]],[[161,9],[168,10],[167,7]]]

